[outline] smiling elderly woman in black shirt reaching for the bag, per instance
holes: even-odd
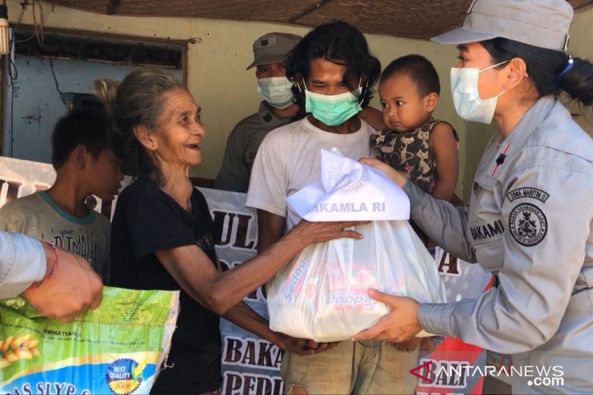
[[[104,88],[114,86],[106,81]],[[221,385],[219,316],[282,349],[311,354],[317,345],[270,331],[241,302],[301,249],[339,237],[353,223],[301,222],[256,258],[222,272],[203,195],[192,187],[190,166],[202,160],[205,135],[192,95],[164,70],[130,73],[116,92],[99,95],[109,107],[122,146],[137,159],[138,178],[119,197],[111,229],[113,284],[180,290],[181,311],[170,354],[153,393],[208,393]]]

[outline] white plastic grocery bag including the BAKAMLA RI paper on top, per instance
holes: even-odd
[[[270,329],[318,342],[349,339],[389,312],[368,288],[446,301],[435,261],[407,221],[406,194],[380,172],[322,150],[320,181],[287,201],[310,221],[373,221],[355,227],[364,239],[311,245],[268,282]]]

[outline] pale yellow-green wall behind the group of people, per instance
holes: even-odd
[[[203,143],[204,160],[193,170],[193,175],[206,178],[216,176],[224,152],[227,136],[237,121],[257,110],[260,101],[256,93],[253,70],[246,70],[251,62],[253,40],[270,31],[304,35],[307,28],[238,21],[205,20],[199,18],[122,17],[93,14],[76,9],[44,5],[44,25],[47,27],[99,31],[139,37],[188,40],[189,89],[203,108],[206,139]],[[16,0],[8,1],[9,17],[15,21],[20,10]],[[31,10],[25,12],[23,23],[33,23]],[[455,49],[427,41],[367,35],[372,52],[387,65],[397,56],[420,53],[428,57],[442,80],[442,99],[435,116],[450,121],[461,136],[460,160],[465,158],[465,126],[455,115],[449,95],[449,68],[455,62]],[[378,107],[378,97],[373,105]],[[461,173],[463,175],[463,172]],[[460,177],[460,185],[461,185]],[[458,189],[460,192],[461,189]]]

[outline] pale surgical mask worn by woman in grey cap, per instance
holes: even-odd
[[[451,69],[451,94],[455,111],[464,120],[489,124],[494,117],[496,102],[503,90],[498,95],[489,99],[480,99],[478,92],[478,79],[481,72],[495,68],[509,62],[498,63],[485,69],[452,68]]]

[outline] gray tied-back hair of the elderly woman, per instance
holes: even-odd
[[[133,133],[135,126],[154,131],[162,111],[162,94],[184,88],[172,73],[164,69],[135,70],[121,84],[109,79],[95,81],[95,94],[109,110],[114,126],[115,149],[123,158],[135,159],[139,175],[154,175],[161,184],[160,171],[146,155]]]

